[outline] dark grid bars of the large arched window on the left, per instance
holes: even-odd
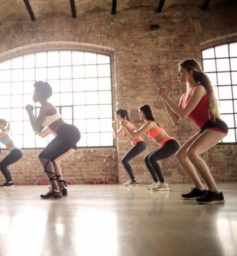
[[[49,52],[55,52],[55,53],[57,53],[57,55],[58,55],[58,64],[59,65],[49,65],[49,62],[48,62],[48,53]],[[45,79],[45,81],[48,81],[49,83],[50,82],[52,82],[52,81],[58,81],[59,82],[59,84],[58,84],[58,86],[59,86],[59,91],[56,91],[55,93],[57,93],[57,96],[59,97],[58,99],[57,99],[57,101],[59,101],[59,105],[55,105],[56,106],[56,108],[58,108],[59,109],[59,111],[60,111],[60,113],[61,113],[61,115],[62,115],[62,110],[66,110],[66,108],[71,108],[71,114],[70,114],[70,118],[69,119],[67,119],[66,117],[64,117],[64,120],[67,122],[67,120],[69,121],[69,123],[73,123],[74,124],[74,122],[75,122],[75,120],[83,120],[83,121],[85,121],[85,127],[84,128],[82,128],[82,130],[83,130],[83,132],[82,132],[82,135],[84,135],[84,139],[85,139],[85,145],[83,145],[83,146],[80,146],[80,141],[79,141],[79,145],[78,145],[78,147],[111,147],[111,146],[114,146],[114,141],[113,141],[113,139],[111,139],[110,141],[109,141],[109,143],[107,142],[107,144],[108,145],[105,145],[105,144],[103,144],[103,146],[101,146],[101,144],[102,144],[102,141],[101,141],[101,134],[104,134],[104,135],[107,135],[107,137],[108,136],[110,136],[111,138],[112,138],[112,130],[111,130],[111,125],[109,126],[109,129],[103,129],[103,130],[101,130],[100,129],[100,122],[101,122],[101,120],[104,120],[104,121],[112,121],[112,111],[113,111],[113,102],[112,102],[112,90],[111,90],[111,61],[110,61],[110,57],[108,56],[108,55],[101,55],[101,54],[99,54],[99,53],[91,53],[91,54],[94,54],[94,55],[96,55],[96,63],[94,63],[94,64],[87,64],[86,63],[86,59],[85,59],[85,54],[86,53],[90,53],[90,52],[82,52],[82,51],[65,51],[65,52],[71,52],[71,65],[70,64],[65,64],[65,65],[62,65],[62,63],[60,63],[60,58],[61,58],[61,56],[60,56],[60,53],[61,52],[64,52],[64,51],[46,51],[46,52],[39,52],[39,53],[45,53],[46,54],[46,65],[40,65],[40,67],[38,66],[38,65],[36,65],[36,54],[37,53],[34,53],[34,54],[30,54],[30,55],[33,55],[34,56],[34,66],[33,67],[25,67],[25,56],[27,56],[27,55],[22,55],[22,56],[18,56],[19,58],[21,58],[21,63],[22,63],[22,66],[21,67],[19,67],[19,68],[16,68],[16,66],[15,67],[13,67],[13,64],[12,64],[12,60],[14,60],[15,58],[12,58],[12,59],[10,59],[10,60],[7,60],[7,61],[10,61],[10,68],[8,67],[8,68],[4,68],[4,69],[2,69],[2,68],[0,68],[0,71],[2,71],[2,70],[6,70],[6,71],[8,71],[9,69],[10,69],[10,81],[9,80],[7,80],[7,81],[0,81],[0,85],[1,85],[1,83],[3,83],[3,82],[5,82],[5,83],[7,83],[7,82],[9,82],[9,84],[10,84],[10,90],[9,90],[9,92],[10,92],[10,94],[9,93],[6,93],[6,95],[5,96],[8,96],[9,98],[10,98],[10,107],[7,107],[7,108],[0,108],[0,111],[1,110],[9,110],[9,113],[10,113],[10,121],[12,121],[12,123],[14,124],[14,122],[21,122],[21,124],[22,124],[22,133],[16,133],[16,132],[14,132],[14,134],[12,134],[11,136],[12,137],[17,137],[17,136],[21,136],[22,137],[22,146],[23,146],[23,148],[24,149],[32,149],[32,148],[36,148],[36,149],[40,149],[40,148],[43,148],[43,147],[39,147],[37,144],[38,144],[38,142],[37,142],[37,136],[38,135],[36,135],[34,132],[33,132],[33,130],[32,130],[32,133],[28,133],[28,134],[26,134],[26,132],[27,132],[27,128],[25,127],[25,125],[27,125],[27,124],[29,124],[29,120],[28,120],[28,118],[26,118],[26,115],[25,115],[25,113],[24,113],[24,111],[26,111],[25,109],[24,109],[24,107],[27,105],[27,104],[32,104],[32,102],[26,102],[26,98],[24,97],[25,95],[32,95],[32,93],[26,93],[26,90],[27,90],[27,84],[28,83],[32,83],[32,87],[33,87],[33,83],[35,82],[35,80],[32,80],[32,81],[27,81],[27,79],[25,80],[25,73],[24,73],[24,70],[30,70],[31,68],[34,68],[34,77],[35,77],[35,79],[36,79],[36,69],[37,68],[46,68],[46,79]],[[76,64],[76,65],[73,65],[73,52],[80,52],[80,53],[82,53],[82,56],[83,56],[83,64],[80,64],[80,65],[78,65],[78,63]],[[104,61],[104,62],[101,62],[101,60],[100,60],[100,63],[98,63],[99,62],[99,60],[98,60],[98,58],[99,58],[99,55],[100,56],[107,56],[107,57],[109,57],[109,59],[107,59],[107,61]],[[18,58],[18,57],[16,57],[16,58]],[[7,61],[4,61],[4,62],[7,62]],[[4,62],[2,62],[2,63],[4,63]],[[0,63],[1,64],[1,63]],[[97,76],[87,76],[86,75],[86,68],[85,67],[88,67],[88,66],[96,66],[96,70],[97,70]],[[99,75],[99,70],[98,70],[98,66],[100,66],[100,65],[107,65],[107,68],[109,67],[109,75],[108,75],[108,72],[106,73],[106,76],[103,76],[103,75],[101,75],[101,73],[100,73],[100,75]],[[60,70],[60,67],[61,66],[63,66],[63,67],[71,67],[71,76],[70,77],[67,77],[67,78],[61,78],[61,74],[60,74],[60,72],[61,72],[61,70]],[[84,73],[84,75],[83,75],[83,77],[75,77],[75,76],[73,76],[73,66],[83,66],[84,68],[83,68],[83,73]],[[48,68],[52,68],[52,67],[58,67],[58,72],[59,72],[59,74],[58,74],[58,77],[57,78],[55,78],[55,79],[49,79],[49,69]],[[12,79],[12,70],[22,70],[22,80],[17,80],[17,81],[12,81],[13,79]],[[87,70],[87,73],[88,73],[88,70]],[[103,87],[102,89],[101,88],[99,88],[99,82],[101,83],[101,81],[102,81],[102,79],[108,79],[108,81],[110,82],[110,85],[109,86],[105,86],[105,87]],[[90,80],[91,79],[91,80]],[[97,85],[97,88],[96,88],[96,90],[91,90],[91,88],[89,88],[89,90],[88,90],[88,88],[86,88],[86,86],[88,85],[87,84],[87,82],[90,80],[90,81],[92,81],[93,79],[96,79],[96,85]],[[44,79],[42,79],[42,80],[44,80]],[[62,81],[65,81],[65,80],[69,80],[70,81],[70,86],[71,86],[71,90],[65,90],[65,88],[64,88],[64,90],[62,89]],[[76,82],[76,81],[79,81],[80,80],[80,82],[82,82],[82,84],[83,84],[83,90],[82,89],[78,89],[77,88],[77,90],[75,90],[75,88],[74,88],[74,82]],[[107,82],[108,82],[107,81]],[[12,87],[12,83],[13,82],[21,82],[22,83],[22,94],[13,94],[13,90],[14,90],[14,88]],[[108,83],[109,84],[109,83]],[[101,85],[101,84],[100,84]],[[53,86],[52,86],[53,87]],[[109,103],[106,103],[106,101],[104,101],[104,99],[103,98],[101,98],[101,97],[103,97],[103,95],[100,95],[99,94],[99,92],[104,92],[104,97],[105,96],[108,96],[107,94],[106,94],[106,92],[108,92],[109,93],[109,91],[110,91],[110,95],[111,95],[111,99],[109,99],[109,100],[107,100],[107,101],[109,101]],[[53,88],[53,92],[54,92],[54,88]],[[80,104],[80,102],[74,102],[74,97],[73,97],[73,93],[75,93],[75,92],[80,92],[80,93],[83,93],[83,98],[84,98],[84,102],[83,102],[83,104]],[[88,92],[89,93],[91,93],[91,92],[96,92],[97,93],[97,101],[98,102],[96,102],[96,103],[94,103],[94,104],[89,104],[88,102],[87,102],[87,95],[88,95]],[[66,95],[66,94],[63,94],[63,93],[70,93],[70,97],[71,97],[71,102],[72,102],[72,104],[69,104],[69,105],[62,105],[62,97],[64,96],[64,95]],[[20,97],[22,97],[22,102],[23,102],[23,106],[21,106],[21,107],[19,107],[19,106],[12,106],[12,95],[14,95],[14,96],[20,96]],[[101,100],[102,99],[102,100]],[[50,100],[49,100],[49,102],[50,102]],[[101,103],[102,102],[102,103]],[[77,106],[80,106],[80,107],[84,107],[84,109],[85,109],[85,111],[86,111],[86,113],[84,113],[84,117],[82,118],[82,117],[80,117],[80,116],[77,116],[77,117],[75,117],[74,116],[74,111],[75,111],[75,107],[77,107]],[[90,117],[88,117],[88,115],[87,115],[87,106],[95,106],[95,107],[97,107],[97,111],[98,111],[98,115],[97,115],[97,117],[92,117],[92,116],[90,116]],[[106,116],[106,117],[102,117],[101,116],[101,113],[100,113],[100,106],[108,106],[108,109],[110,110],[109,111],[109,114],[108,114],[108,116]],[[39,109],[39,104],[35,104],[35,114],[37,113],[37,110]],[[22,110],[22,119],[21,120],[17,120],[16,118],[14,118],[14,120],[12,120],[12,110]],[[7,118],[5,118],[5,119],[8,119],[9,120],[9,116],[7,117]],[[1,117],[0,117],[1,118]],[[96,131],[94,131],[94,132],[92,132],[92,131],[88,131],[88,127],[87,127],[87,120],[98,120],[98,129],[96,129]],[[17,123],[15,123],[15,124],[17,124]],[[106,126],[107,127],[107,126]],[[80,129],[80,127],[78,127],[79,129]],[[90,135],[90,134],[96,134],[97,135],[97,139],[98,139],[98,141],[99,141],[99,143],[97,144],[97,145],[94,145],[93,146],[93,144],[92,145],[89,145],[88,146],[88,136],[87,135]],[[24,146],[24,145],[26,145],[26,143],[25,143],[25,141],[24,141],[24,139],[26,139],[27,137],[29,138],[29,137],[32,137],[32,136],[34,136],[34,140],[35,140],[35,145],[34,145],[34,147],[26,147],[26,146]],[[40,138],[42,141],[44,140],[44,138]],[[14,138],[13,138],[13,141],[15,142],[15,140],[14,140]],[[108,140],[107,140],[108,141]],[[46,144],[49,142],[49,137],[46,137]],[[43,142],[42,142],[42,144],[43,144]],[[18,146],[18,145],[17,145]]]

